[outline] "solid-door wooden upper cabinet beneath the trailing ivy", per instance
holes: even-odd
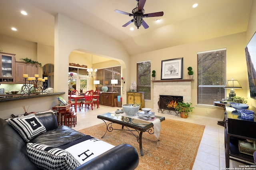
[[[15,62],[15,82],[24,83],[23,74],[28,74],[28,77],[35,77],[38,73],[37,64],[29,64],[20,61]]]

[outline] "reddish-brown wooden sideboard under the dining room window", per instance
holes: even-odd
[[[114,107],[114,99],[117,96],[117,92],[102,92],[99,97],[99,104]]]

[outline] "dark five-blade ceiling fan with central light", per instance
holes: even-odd
[[[126,24],[123,25],[123,27],[128,26],[129,24],[131,24],[132,22],[134,22],[135,26],[139,29],[139,27],[142,25],[145,29],[147,29],[149,26],[148,24],[143,20],[143,17],[148,18],[148,17],[155,17],[155,16],[163,16],[164,12],[154,12],[154,13],[150,13],[150,14],[144,14],[144,5],[146,0],[136,0],[138,1],[138,4],[136,6],[136,8],[134,8],[132,10],[132,14],[128,13],[128,12],[123,12],[120,10],[115,10],[115,12],[120,13],[120,14],[125,14],[128,16],[133,16],[133,19],[128,21]]]

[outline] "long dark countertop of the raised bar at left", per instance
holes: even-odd
[[[32,99],[32,98],[46,97],[46,96],[53,96],[53,95],[60,95],[60,94],[65,94],[65,92],[54,92],[54,93],[48,93],[48,94],[30,94],[30,95],[28,94],[0,95],[0,102]]]

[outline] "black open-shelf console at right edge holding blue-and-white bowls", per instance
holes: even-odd
[[[250,106],[248,110],[255,110]],[[255,111],[254,111],[255,113]],[[241,153],[239,150],[239,140],[244,141],[246,139],[256,141],[256,117],[254,120],[242,119],[236,109],[226,104],[225,107],[225,158],[226,168],[229,168],[230,160],[244,160],[244,164],[254,165],[254,158],[252,155]]]

